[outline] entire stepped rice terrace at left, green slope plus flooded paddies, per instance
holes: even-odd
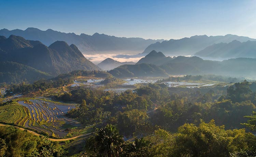
[[[65,114],[75,104],[42,99],[19,99],[0,106],[0,122],[22,126],[56,138],[68,135],[67,128],[80,127],[80,123]]]

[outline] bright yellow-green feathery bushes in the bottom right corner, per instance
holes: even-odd
[[[229,156],[230,153],[248,149],[247,138],[255,137],[244,129],[225,130],[224,126],[216,126],[214,121],[184,124],[174,134],[173,156],[215,157]]]

